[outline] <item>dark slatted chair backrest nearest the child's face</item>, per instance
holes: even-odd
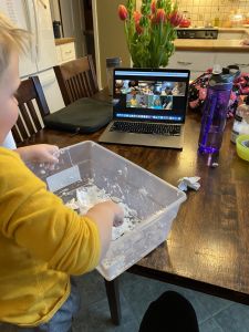
[[[15,97],[20,113],[12,134],[18,144],[44,127],[42,118],[50,114],[50,110],[38,76],[22,81]]]

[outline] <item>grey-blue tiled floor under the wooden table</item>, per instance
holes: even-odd
[[[110,319],[108,303],[102,277],[93,271],[79,277],[82,309],[74,321],[73,332],[136,332],[149,302],[166,290],[184,294],[194,305],[200,332],[248,332],[249,307],[168,283],[123,273],[120,281],[122,324]],[[156,332],[156,331],[155,331]]]

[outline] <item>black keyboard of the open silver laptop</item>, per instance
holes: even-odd
[[[124,132],[135,134],[154,134],[165,136],[179,136],[180,125],[165,125],[143,122],[115,121],[110,128],[111,132]]]

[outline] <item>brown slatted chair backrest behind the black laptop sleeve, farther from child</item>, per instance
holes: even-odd
[[[65,105],[98,91],[92,55],[55,65],[54,73]]]

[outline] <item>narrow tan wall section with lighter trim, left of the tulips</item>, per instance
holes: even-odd
[[[96,68],[100,87],[107,85],[106,58],[120,56],[123,66],[131,66],[124,23],[117,15],[117,7],[121,2],[121,0],[93,1]]]

